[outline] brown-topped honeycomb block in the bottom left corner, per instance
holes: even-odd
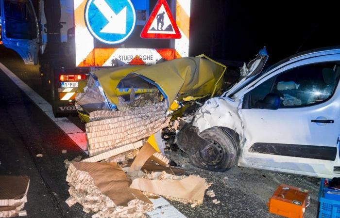
[[[26,216],[22,209],[29,185],[27,176],[0,176],[0,217]]]

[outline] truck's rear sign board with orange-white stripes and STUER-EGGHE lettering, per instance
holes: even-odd
[[[191,0],[73,3],[77,67],[155,64],[188,56]]]

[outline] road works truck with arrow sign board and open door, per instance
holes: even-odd
[[[0,0],[0,43],[39,64],[55,117],[103,67],[188,56],[191,0]]]

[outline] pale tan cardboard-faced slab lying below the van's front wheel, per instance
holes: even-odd
[[[187,200],[187,202],[203,202],[206,189],[205,179],[190,175],[181,180],[161,179],[134,179],[131,188],[150,192],[164,197]]]

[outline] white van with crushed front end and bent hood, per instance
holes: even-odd
[[[264,49],[241,80],[177,133],[191,162],[315,177],[340,176],[340,47],[294,55],[267,70]]]

